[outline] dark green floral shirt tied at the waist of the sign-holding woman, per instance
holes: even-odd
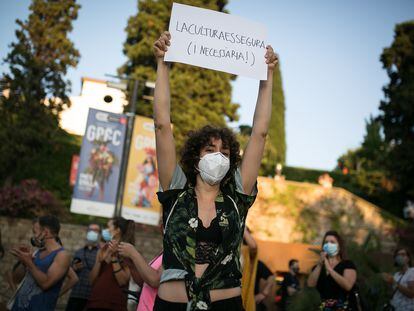
[[[189,297],[187,310],[209,310],[210,290],[240,286],[240,245],[252,195],[243,193],[240,171],[224,186],[216,198],[216,213],[222,234],[213,262],[201,278],[195,277],[196,231],[198,207],[194,188],[187,185],[182,169],[177,166],[170,190],[158,192],[163,206],[164,255],[161,283],[184,280]]]

